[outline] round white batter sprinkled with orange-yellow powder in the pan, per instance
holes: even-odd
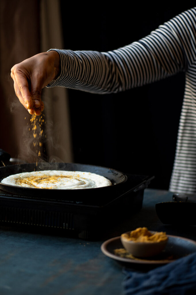
[[[1,183],[39,189],[91,189],[110,186],[104,176],[81,171],[34,171],[10,175]]]

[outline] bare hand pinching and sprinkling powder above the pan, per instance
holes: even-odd
[[[30,114],[40,115],[44,109],[41,89],[59,75],[57,51],[39,53],[11,68],[16,96]]]

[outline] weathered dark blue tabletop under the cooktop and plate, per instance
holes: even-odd
[[[183,230],[158,219],[155,204],[171,200],[172,193],[145,189],[142,209],[108,238],[146,226],[196,240],[196,227]],[[0,294],[122,294],[123,266],[101,252],[103,242],[0,227]]]

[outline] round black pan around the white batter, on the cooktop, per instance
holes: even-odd
[[[60,190],[60,189],[34,189],[19,186],[11,186],[1,183],[1,180],[9,175],[40,171],[40,170],[67,170],[67,171],[83,171],[102,175],[112,182],[112,186],[105,186],[93,189],[74,189],[74,190]],[[84,165],[77,163],[45,163],[42,167],[36,166],[36,163],[8,165],[0,167],[0,189],[11,194],[28,197],[41,197],[42,199],[56,199],[56,200],[78,200],[88,201],[93,198],[107,198],[111,194],[118,196],[122,194],[122,184],[127,181],[126,174],[100,166]]]

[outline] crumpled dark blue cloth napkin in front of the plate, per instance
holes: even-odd
[[[196,253],[147,273],[125,271],[123,281],[126,295],[195,295],[196,294]]]

